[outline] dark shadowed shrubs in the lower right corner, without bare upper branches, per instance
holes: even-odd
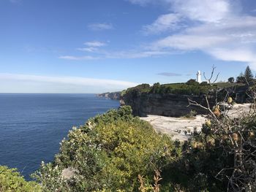
[[[183,157],[162,172],[163,182],[187,191],[255,191],[255,126],[255,115],[211,118],[184,143]]]

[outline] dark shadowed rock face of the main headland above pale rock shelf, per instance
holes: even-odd
[[[130,105],[134,115],[163,115],[168,117],[180,117],[195,110],[198,114],[206,114],[207,111],[200,107],[188,106],[188,98],[206,105],[203,96],[186,96],[176,94],[142,93],[138,96],[126,94],[121,98],[121,105]],[[213,99],[211,99],[213,100]],[[214,103],[212,102],[213,106]]]

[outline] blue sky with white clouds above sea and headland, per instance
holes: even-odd
[[[0,0],[0,93],[102,93],[256,70],[255,0]]]

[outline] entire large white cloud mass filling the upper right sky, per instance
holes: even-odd
[[[129,0],[133,4],[156,4],[154,0]],[[241,1],[242,2],[242,1]],[[256,69],[256,17],[241,12],[230,0],[159,0],[169,14],[143,29],[148,34],[170,31],[151,44],[155,51],[200,50],[222,61],[244,62]],[[172,31],[189,21],[182,31]]]

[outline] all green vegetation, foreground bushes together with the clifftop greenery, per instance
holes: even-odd
[[[213,72],[208,83],[142,84],[122,94],[180,91],[206,93],[207,100],[209,91],[230,86],[230,82],[211,83]],[[157,134],[149,123],[133,117],[129,106],[97,115],[72,128],[55,160],[42,163],[34,174],[40,185],[0,166],[0,191],[256,191],[256,86],[252,82],[246,94],[254,104],[244,115],[227,115],[233,104],[228,89],[213,108],[189,99],[189,104],[209,114],[202,130],[186,142]],[[187,118],[194,115],[191,111]],[[69,175],[64,174],[67,170]]]

